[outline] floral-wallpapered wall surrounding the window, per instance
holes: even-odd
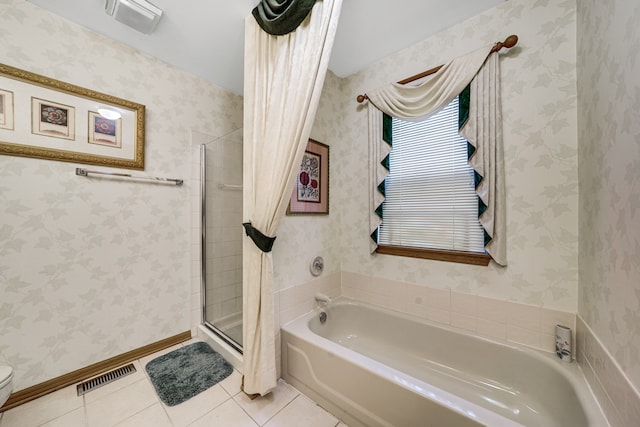
[[[331,236],[343,271],[575,312],[578,287],[576,9],[511,0],[325,87],[332,145]],[[501,59],[509,266],[475,267],[368,252],[367,115],[356,96],[479,47],[520,37]],[[331,120],[326,122],[326,120]],[[336,131],[338,130],[338,131]],[[301,223],[302,236],[307,223]],[[334,228],[337,228],[337,232]],[[311,228],[312,232],[323,228]],[[321,236],[324,236],[321,234]],[[326,238],[326,237],[324,237]],[[300,245],[303,238],[300,238]],[[293,251],[290,248],[290,259]],[[302,276],[299,277],[302,279]],[[302,280],[300,280],[302,282]]]

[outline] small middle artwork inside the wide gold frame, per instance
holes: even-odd
[[[76,109],[31,97],[31,132],[35,135],[75,140]]]

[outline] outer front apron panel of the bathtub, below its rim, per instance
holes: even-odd
[[[350,427],[487,425],[474,419],[471,408],[457,405],[461,410],[451,410],[450,405],[456,405],[454,398],[448,398],[451,396],[439,394],[440,402],[424,399],[408,383],[374,375],[374,367],[332,357],[286,331],[283,343],[285,380]]]

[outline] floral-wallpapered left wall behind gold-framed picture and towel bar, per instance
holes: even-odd
[[[24,0],[0,2],[0,39],[5,64],[145,104],[141,173],[185,179],[0,156],[0,363],[20,390],[190,328],[189,131],[239,128],[242,99]]]

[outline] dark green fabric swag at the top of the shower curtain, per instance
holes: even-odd
[[[272,36],[295,31],[316,0],[261,0],[251,12],[260,28]]]

